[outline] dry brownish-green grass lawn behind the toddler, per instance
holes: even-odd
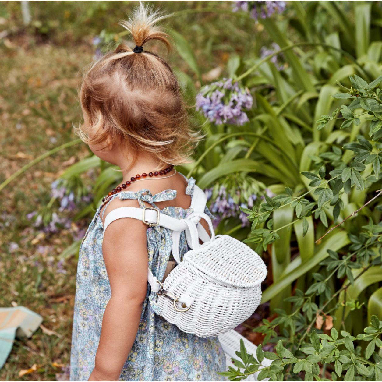
[[[0,183],[31,159],[76,138],[72,124],[81,118],[78,74],[91,62],[92,37],[104,28],[122,31],[117,22],[134,5],[30,2],[32,23],[25,28],[20,3],[0,3],[0,32],[7,33],[0,39]],[[159,2],[155,6],[169,13],[199,7],[230,9],[227,2]],[[223,65],[234,51],[245,56],[264,43],[256,43],[253,22],[229,13],[180,15],[170,18],[167,26],[186,37],[201,73]],[[197,81],[176,52],[167,59]],[[46,206],[50,183],[87,154],[84,144],[58,152],[2,191],[0,306],[26,306],[41,314],[44,327],[57,334],[38,329],[31,338],[16,340],[0,380],[56,380],[61,367],[53,363],[69,364],[76,259],[64,262],[64,274],[58,272],[58,257],[73,242],[73,231],[86,228],[89,222],[84,219],[71,229],[45,235],[32,227],[26,214]],[[91,174],[84,181],[91,181]],[[19,248],[11,251],[11,243]],[[40,253],[42,246],[49,249]],[[39,366],[37,371],[18,376],[34,364]]]

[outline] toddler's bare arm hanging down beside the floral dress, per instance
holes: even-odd
[[[105,231],[102,252],[112,297],[89,381],[119,380],[133,346],[147,292],[146,230],[139,220],[119,219]]]

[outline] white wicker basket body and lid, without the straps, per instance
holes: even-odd
[[[265,264],[254,251],[223,236],[197,252],[189,251],[164,282],[164,290],[180,298],[178,308],[183,301],[191,308],[178,312],[170,299],[159,295],[161,314],[184,332],[199,337],[226,333],[259,306],[265,275]]]

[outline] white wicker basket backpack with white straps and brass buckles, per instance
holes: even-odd
[[[131,217],[150,227],[172,230],[172,254],[178,265],[163,284],[150,269],[147,281],[158,295],[161,316],[199,337],[226,333],[251,316],[260,303],[260,284],[267,275],[262,259],[246,244],[228,235],[215,236],[205,207],[206,195],[195,185],[193,213],[186,219],[170,217],[154,207],[120,207],[112,210],[104,223],[105,231],[114,220]],[[211,237],[199,223],[202,218],[209,224]],[[180,261],[182,231],[191,250]]]

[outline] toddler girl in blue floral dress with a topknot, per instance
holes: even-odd
[[[184,333],[157,314],[147,267],[163,280],[173,261],[172,231],[145,215],[108,219],[119,207],[142,213],[152,207],[177,219],[193,212],[195,181],[174,165],[187,162],[199,136],[189,129],[170,66],[146,51],[150,40],[170,47],[156,26],[163,17],[140,5],[123,23],[134,50],[121,44],[97,60],[81,86],[78,134],[100,159],[121,168],[123,182],[105,196],[79,251],[70,380],[223,379],[217,338]],[[180,257],[188,250],[183,232]]]

